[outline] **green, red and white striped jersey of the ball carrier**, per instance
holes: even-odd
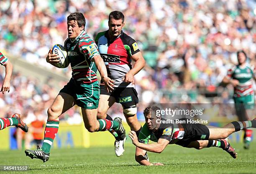
[[[92,38],[82,31],[73,41],[67,38],[64,47],[71,64],[72,77],[79,83],[96,82],[97,67],[92,58],[100,53]]]

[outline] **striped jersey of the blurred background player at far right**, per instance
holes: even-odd
[[[234,97],[243,97],[246,95],[253,95],[253,78],[256,77],[256,73],[253,72],[253,67],[247,65],[245,68],[241,68],[238,65],[228,70],[229,79],[237,79],[239,84],[234,87]]]

